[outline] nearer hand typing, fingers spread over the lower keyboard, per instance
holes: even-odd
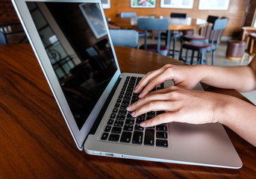
[[[213,92],[188,90],[181,87],[169,87],[150,92],[145,98],[131,104],[127,110],[137,117],[149,111],[164,110],[166,113],[155,116],[140,125],[151,127],[166,122],[186,122],[204,124],[218,122],[229,96]]]

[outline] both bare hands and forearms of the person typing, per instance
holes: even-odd
[[[172,66],[149,72],[138,84],[134,92],[140,100],[131,104],[127,110],[137,117],[152,110],[165,110],[153,119],[140,125],[149,127],[165,122],[186,122],[203,124],[219,122],[256,146],[256,107],[230,95],[214,92],[190,90],[199,81],[213,87],[235,89],[238,91],[255,90],[256,58],[249,66]],[[177,87],[169,87],[155,92],[155,85],[173,80]],[[184,88],[185,87],[185,88]],[[149,94],[148,94],[149,93]]]

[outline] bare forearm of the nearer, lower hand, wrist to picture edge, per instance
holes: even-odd
[[[228,96],[215,115],[218,122],[256,146],[256,107],[253,104]]]

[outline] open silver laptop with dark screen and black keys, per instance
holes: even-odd
[[[100,0],[12,0],[75,144],[87,154],[240,169],[222,125],[141,128],[126,107],[143,74],[121,73]],[[172,81],[154,90],[169,87]],[[202,90],[200,84],[196,90]],[[131,98],[130,98],[131,97]]]

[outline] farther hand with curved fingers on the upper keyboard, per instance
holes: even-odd
[[[134,90],[140,93],[139,97],[145,97],[154,87],[164,81],[172,80],[175,86],[193,89],[202,79],[200,66],[174,66],[167,64],[160,69],[149,72]],[[143,87],[145,87],[143,89]]]

